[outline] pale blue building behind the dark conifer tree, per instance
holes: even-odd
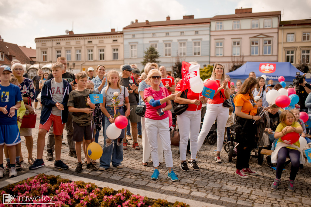
[[[183,61],[197,61],[201,65],[209,64],[210,19],[194,19],[193,15],[183,16],[182,20],[132,22],[123,28],[124,63],[136,63],[143,69],[144,51],[150,46],[160,54],[160,65],[171,70],[176,57]],[[203,67],[203,66],[202,66]]]

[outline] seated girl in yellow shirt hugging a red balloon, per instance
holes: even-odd
[[[277,126],[274,137],[277,141],[276,149],[272,152],[271,162],[276,163],[276,178],[274,179],[271,189],[277,190],[281,182],[281,175],[286,161],[290,157],[291,168],[288,180],[287,190],[295,190],[295,178],[299,170],[299,164],[304,164],[305,159],[302,151],[299,149],[299,133],[303,132],[301,125],[295,121],[293,112],[284,110],[280,116],[281,123]]]

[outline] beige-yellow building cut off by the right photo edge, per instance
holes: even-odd
[[[294,66],[310,63],[311,19],[281,21],[279,28],[279,62]]]

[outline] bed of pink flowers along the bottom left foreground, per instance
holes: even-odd
[[[114,191],[112,188],[99,188],[93,183],[85,183],[83,181],[71,182],[68,179],[63,179],[60,176],[39,174],[27,180],[10,184],[4,187],[1,192],[19,196],[22,203],[35,204],[12,204],[19,203],[17,199],[13,199],[11,204],[3,204],[3,199],[0,199],[0,207],[4,206],[28,206],[28,207],[74,207],[74,206],[189,206],[176,201],[174,204],[167,200],[154,200],[140,195],[134,195],[128,190]],[[25,200],[31,198],[32,200]],[[54,203],[54,204],[39,204],[39,203]]]

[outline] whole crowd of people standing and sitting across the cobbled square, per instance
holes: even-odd
[[[196,65],[197,62],[190,64]],[[271,188],[273,190],[278,188],[286,156],[289,156],[292,166],[288,190],[293,191],[299,164],[304,163],[304,158],[301,150],[299,151],[299,141],[288,145],[281,137],[296,132],[305,137],[307,142],[311,142],[306,137],[304,122],[299,119],[299,109],[283,110],[275,104],[267,103],[265,98],[267,92],[272,88],[279,90],[282,88],[280,84],[273,85],[273,80],[269,80],[266,84],[264,78],[256,79],[256,74],[251,72],[244,83],[238,80],[234,86],[221,63],[214,64],[210,79],[205,80],[214,80],[218,84],[218,90],[212,99],[193,92],[191,88],[182,91],[182,80],[178,77],[174,79],[164,66],[159,68],[156,63],[147,63],[143,73],[138,70],[137,65],[126,64],[121,65],[121,72],[110,70],[106,74],[105,66],[98,65],[96,70],[90,67],[87,72],[72,74],[67,71],[66,58],[58,57],[57,62],[52,65],[52,73],[43,73],[39,69],[38,74],[32,79],[24,77],[23,65],[19,62],[12,62],[11,68],[3,66],[2,69],[0,177],[3,177],[5,171],[12,177],[17,176],[17,171],[22,170],[21,162],[24,159],[21,137],[25,137],[29,169],[44,166],[43,154],[47,133],[46,160],[55,159],[55,168],[68,169],[68,165],[61,157],[64,143],[63,129],[66,125],[68,155],[77,159],[76,172],[82,171],[83,164],[86,164],[86,168],[91,171],[108,169],[110,164],[116,168],[123,168],[123,150],[128,150],[128,140],[133,139],[132,148],[140,150],[137,142],[137,138],[140,137],[143,166],[148,165],[151,155],[154,167],[151,179],[158,179],[160,174],[158,167],[163,162],[164,154],[168,178],[178,181],[174,173],[170,130],[178,124],[180,169],[189,172],[188,164],[190,164],[193,170],[200,170],[197,164],[198,152],[212,125],[217,121],[217,149],[214,157],[216,163],[222,162],[220,157],[222,146],[230,141],[230,126],[241,125],[244,128],[237,147],[235,174],[244,179],[247,179],[248,175],[258,175],[250,169],[249,159],[251,151],[258,147],[256,137],[260,134],[259,144],[271,145],[274,150],[272,155],[267,157],[267,160],[276,163],[276,178]],[[305,111],[309,107],[311,111],[311,86],[305,82],[300,86],[301,90],[305,91],[304,97],[300,98],[300,109]],[[90,94],[103,94],[103,103],[93,104]],[[185,107],[175,114],[174,103]],[[22,127],[22,118],[35,115],[38,105],[41,116],[35,146],[37,155],[34,160],[32,128]],[[137,107],[145,110],[143,116],[137,115]],[[264,112],[264,115],[260,116],[260,112]],[[128,118],[128,126],[122,129],[118,138],[110,139],[106,130],[120,115]],[[253,122],[260,120],[265,123],[265,127],[258,133],[258,125]],[[99,142],[101,130],[104,144],[97,168],[96,160],[91,160],[87,156],[87,148],[91,142]],[[190,157],[187,160],[189,150]],[[7,160],[6,169],[2,163],[3,152]],[[83,161],[82,152],[85,157]]]

